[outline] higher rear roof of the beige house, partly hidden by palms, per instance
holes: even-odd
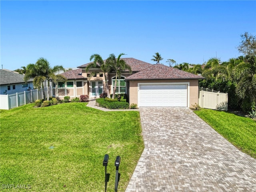
[[[126,62],[126,64],[130,65],[130,67],[132,68],[132,72],[138,72],[138,71],[142,71],[146,68],[149,68],[150,66],[152,66],[152,64],[138,60],[138,59],[134,59],[134,58],[120,58],[122,60],[124,60]],[[104,60],[105,62],[106,60]],[[90,62],[92,63],[92,62]],[[81,66],[78,66],[78,68],[85,68],[88,64],[84,64]],[[126,70],[128,71],[128,70]]]

